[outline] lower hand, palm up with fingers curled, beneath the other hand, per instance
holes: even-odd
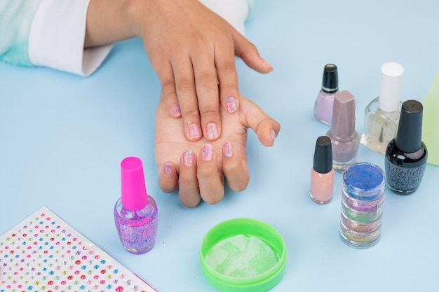
[[[247,129],[257,133],[264,146],[273,146],[281,126],[249,99],[230,115],[219,106],[222,137],[189,141],[180,120],[168,114],[166,98],[156,110],[155,158],[158,186],[165,193],[178,189],[182,204],[195,207],[201,200],[216,204],[224,195],[224,176],[232,190],[244,190],[250,179],[245,155]]]

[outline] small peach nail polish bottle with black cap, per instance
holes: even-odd
[[[327,204],[332,200],[333,189],[334,169],[332,169],[331,139],[327,136],[320,136],[317,138],[314,151],[309,196],[317,204]]]

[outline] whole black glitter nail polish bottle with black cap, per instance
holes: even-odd
[[[403,103],[398,133],[387,145],[385,155],[387,186],[398,195],[409,195],[419,187],[427,162],[427,148],[421,141],[422,104]]]

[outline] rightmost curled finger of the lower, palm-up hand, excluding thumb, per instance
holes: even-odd
[[[247,162],[238,156],[229,141],[222,145],[222,171],[227,178],[227,184],[232,190],[239,192],[247,188],[248,181],[250,181]]]

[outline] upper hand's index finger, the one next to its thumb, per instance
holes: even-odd
[[[228,113],[234,113],[238,109],[240,95],[232,40],[223,41],[215,48],[215,66],[222,106]]]

